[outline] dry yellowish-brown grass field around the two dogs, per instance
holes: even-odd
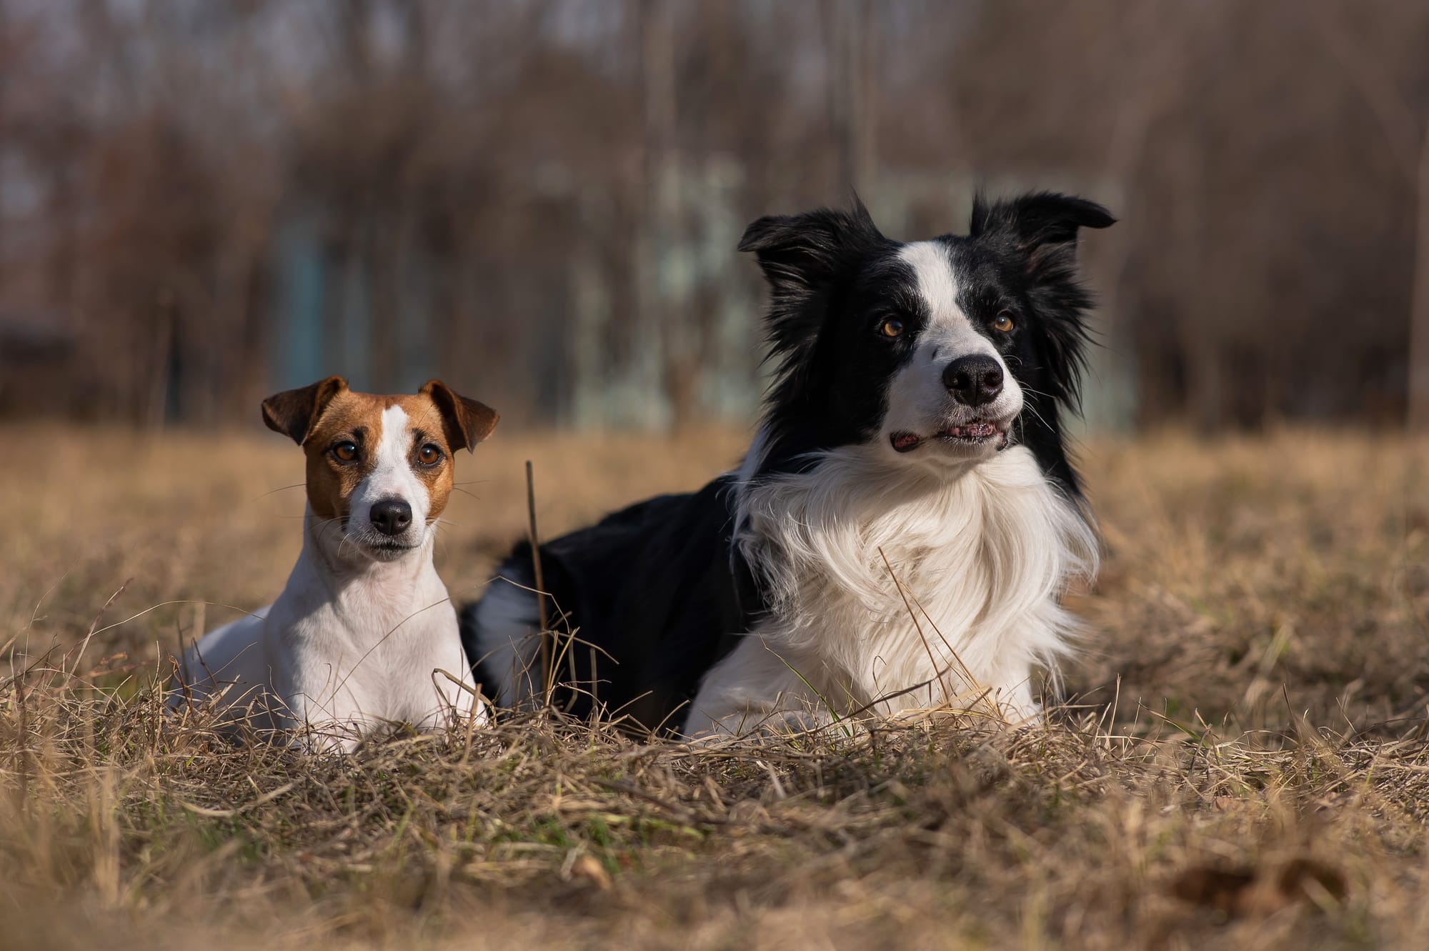
[[[459,601],[543,534],[737,457],[499,433]],[[153,684],[280,590],[270,434],[0,430],[0,950],[1429,947],[1429,444],[1097,441],[1107,544],[1046,727],[640,745],[509,721],[354,757],[229,748]]]

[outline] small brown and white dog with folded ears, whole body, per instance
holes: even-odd
[[[439,380],[373,396],[329,377],[264,400],[307,454],[303,553],[277,601],[186,653],[170,704],[216,697],[230,720],[349,751],[389,724],[486,723],[432,550],[453,453],[496,418]]]

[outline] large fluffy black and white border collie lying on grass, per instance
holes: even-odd
[[[1063,447],[1090,304],[1060,194],[977,200],[967,236],[900,244],[867,211],[749,226],[775,383],[735,473],[540,550],[564,703],[687,735],[982,698],[1037,713],[1096,538]],[[543,677],[530,550],[462,615],[477,678]]]

